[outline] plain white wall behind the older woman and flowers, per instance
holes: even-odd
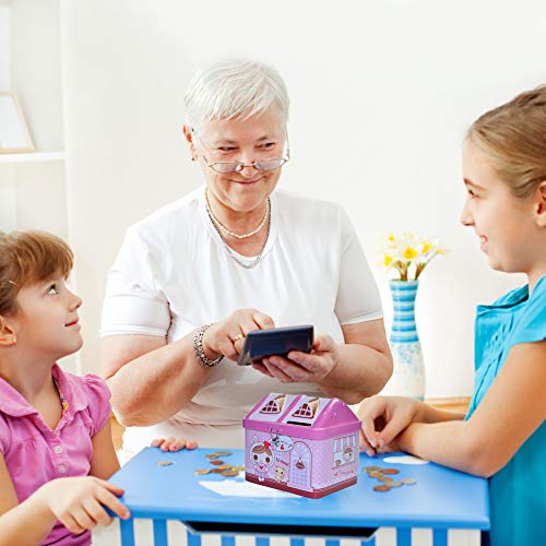
[[[390,228],[451,249],[423,276],[417,320],[427,395],[468,394],[473,317],[521,277],[496,274],[471,230],[460,144],[485,109],[546,81],[546,8],[522,0],[437,2],[63,1],[71,240],[86,305],[84,369],[97,366],[108,266],[131,223],[200,183],[180,138],[198,67],[273,63],[293,107],[282,185],[336,200],[370,261]],[[387,320],[390,298],[380,271]]]

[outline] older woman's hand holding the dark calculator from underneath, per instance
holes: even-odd
[[[252,367],[283,383],[321,383],[340,361],[339,346],[330,335],[314,340],[311,353],[290,351],[287,358],[269,356]]]

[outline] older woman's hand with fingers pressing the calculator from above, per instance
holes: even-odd
[[[271,317],[257,309],[239,309],[213,324],[203,335],[203,351],[207,358],[224,355],[237,360],[245,344],[245,336],[253,330],[275,328]]]

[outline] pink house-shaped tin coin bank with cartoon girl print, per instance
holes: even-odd
[[[242,426],[248,482],[314,499],[356,484],[360,422],[341,400],[271,393]]]

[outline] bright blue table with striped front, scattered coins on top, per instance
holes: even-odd
[[[222,449],[223,450],[223,449]],[[272,536],[289,535],[293,546],[301,546],[305,536],[327,537],[334,546],[343,537],[370,538],[378,527],[396,527],[399,546],[411,544],[412,527],[431,527],[435,546],[448,544],[448,529],[489,529],[487,480],[428,463],[406,465],[383,462],[387,455],[370,459],[360,454],[360,470],[377,465],[400,470],[395,479],[411,477],[415,485],[404,485],[388,492],[378,492],[377,479],[360,472],[358,484],[321,499],[299,496],[290,498],[225,497],[200,485],[200,482],[229,480],[237,486],[240,477],[221,474],[197,475],[197,468],[212,468],[209,453],[218,450],[197,449],[164,453],[145,448],[129,461],[110,482],[122,487],[122,501],[132,518],[149,518],[154,524],[157,546],[167,544],[167,520],[182,521],[194,533],[221,533],[223,546],[234,544],[233,535],[251,533]],[[232,465],[244,464],[242,450],[229,450],[224,458]],[[389,454],[389,456],[402,454]],[[159,461],[170,460],[169,466]],[[259,487],[259,486],[256,486]],[[269,489],[269,488],[268,488]],[[274,489],[271,489],[275,491]],[[134,544],[133,521],[120,521],[121,543]],[[197,542],[190,546],[199,544]],[[191,543],[191,536],[189,535]],[[257,546],[266,546],[268,538],[258,538]]]

